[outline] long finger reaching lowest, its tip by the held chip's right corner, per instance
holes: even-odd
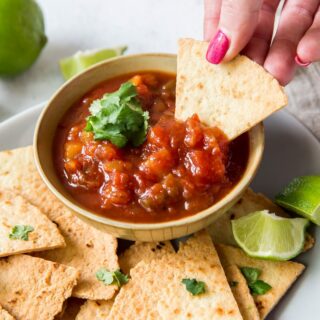
[[[294,76],[295,56],[300,39],[312,24],[319,0],[288,0],[280,17],[280,23],[264,67],[282,85]]]

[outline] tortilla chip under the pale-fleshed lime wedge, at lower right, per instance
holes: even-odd
[[[223,268],[230,265],[253,267],[262,271],[260,279],[272,289],[264,295],[254,295],[254,301],[261,319],[264,319],[279,302],[281,297],[303,272],[304,265],[292,261],[269,261],[247,256],[241,249],[225,245],[216,245]]]

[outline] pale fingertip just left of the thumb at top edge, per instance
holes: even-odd
[[[204,40],[210,41],[217,31],[222,0],[204,0]]]

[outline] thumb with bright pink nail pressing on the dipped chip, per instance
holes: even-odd
[[[207,60],[219,64],[233,59],[249,42],[258,24],[262,0],[223,0],[216,35]]]

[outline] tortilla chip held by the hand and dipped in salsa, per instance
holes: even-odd
[[[206,60],[208,43],[179,41],[176,118],[197,113],[232,140],[287,104],[278,81],[245,56],[213,65]]]

